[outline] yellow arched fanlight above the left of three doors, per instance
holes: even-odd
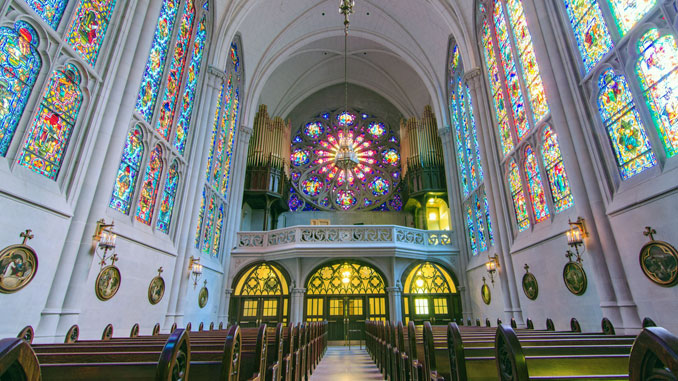
[[[238,296],[280,296],[289,294],[289,286],[275,265],[262,262],[240,276],[233,293]]]

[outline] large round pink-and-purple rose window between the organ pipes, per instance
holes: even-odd
[[[402,209],[398,136],[370,114],[318,114],[292,137],[290,162],[291,211]]]

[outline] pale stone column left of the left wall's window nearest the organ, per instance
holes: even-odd
[[[169,329],[172,323],[177,323],[177,326],[183,326],[184,306],[186,304],[186,297],[188,292],[188,285],[190,283],[189,277],[186,276],[186,269],[188,269],[188,262],[190,260],[190,253],[195,251],[192,246],[194,240],[194,232],[198,228],[198,209],[200,209],[200,202],[202,201],[202,189],[205,184],[205,172],[207,171],[207,155],[205,152],[209,150],[211,142],[214,116],[217,111],[217,100],[219,99],[221,87],[226,82],[226,76],[223,72],[208,67],[207,69],[207,85],[202,96],[202,103],[200,110],[204,110],[199,115],[202,115],[200,124],[202,128],[200,138],[196,139],[196,144],[193,149],[193,192],[187,192],[186,210],[189,211],[184,216],[182,226],[189,226],[188,231],[184,231],[183,239],[180,242],[179,253],[177,257],[177,266],[174,269],[174,281],[172,282],[172,292],[170,293],[170,302],[168,304],[168,311],[165,317],[165,329]],[[226,220],[228,221],[228,220]],[[196,251],[197,255],[197,251]],[[220,285],[217,289],[221,289]]]

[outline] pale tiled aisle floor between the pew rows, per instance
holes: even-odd
[[[311,381],[383,380],[370,355],[358,347],[328,347],[327,353],[313,371]]]

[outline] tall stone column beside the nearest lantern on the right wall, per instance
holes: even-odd
[[[622,329],[637,329],[640,327],[640,317],[606,213],[604,193],[607,191],[607,184],[598,181],[594,165],[596,158],[591,157],[583,132],[589,126],[583,125],[581,122],[585,123],[585,120],[580,117],[587,117],[588,113],[577,108],[572,95],[572,89],[578,85],[575,82],[577,79],[568,77],[568,74],[572,75],[571,68],[566,64],[567,57],[563,57],[558,49],[561,45],[556,35],[563,31],[550,18],[544,2],[526,4],[525,16],[528,20],[539,20],[534,25],[542,26],[538,29],[530,28],[530,33],[538,55],[539,69],[551,107],[552,126],[558,134],[575,208],[586,220],[589,231],[589,237],[585,239],[588,254],[586,257],[591,258],[596,274],[603,316]],[[573,86],[568,86],[569,84]]]

